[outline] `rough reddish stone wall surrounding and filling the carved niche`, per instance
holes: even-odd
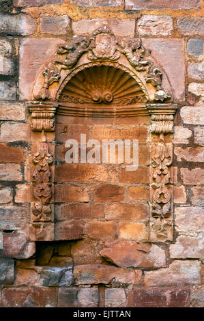
[[[1,0],[0,4],[0,307],[203,307],[203,0]],[[92,167],[89,176],[90,165],[85,164],[74,178],[68,171],[63,177],[60,139],[66,121],[58,116],[56,176],[58,183],[66,182],[63,193],[62,185],[55,184],[59,237],[35,242],[29,238],[30,163],[31,141],[38,139],[25,101],[31,99],[36,76],[57,44],[91,35],[104,24],[115,36],[143,38],[166,72],[178,104],[173,238],[150,242],[146,171],[130,180],[110,165],[106,173]],[[66,130],[76,135],[80,126],[85,131],[95,128],[100,138],[103,120],[83,121],[70,118]],[[149,118],[111,122],[110,137],[117,136],[119,125],[128,135],[132,128],[139,128],[142,135]],[[139,157],[143,169],[149,170],[146,139]],[[53,142],[52,133],[48,142]],[[100,184],[90,185],[93,177]],[[66,219],[70,221],[63,223]]]

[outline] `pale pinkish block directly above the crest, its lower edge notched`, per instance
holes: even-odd
[[[115,36],[120,37],[133,37],[135,20],[128,19],[108,19],[108,18],[97,18],[91,20],[79,20],[73,21],[72,28],[74,34],[85,35],[90,34],[102,27],[102,25],[107,25]]]

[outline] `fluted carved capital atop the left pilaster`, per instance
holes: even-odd
[[[53,102],[27,102],[31,112],[31,128],[33,131],[53,132],[55,130],[55,111],[57,104]]]

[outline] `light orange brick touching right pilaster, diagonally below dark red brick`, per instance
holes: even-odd
[[[107,220],[139,221],[149,218],[149,206],[146,204],[115,203],[105,208]]]

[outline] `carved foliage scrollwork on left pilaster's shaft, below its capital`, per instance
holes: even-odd
[[[42,132],[43,137],[44,132]],[[49,153],[48,143],[46,140],[38,145],[38,151],[33,154],[33,163],[35,169],[33,171],[33,196],[37,200],[31,209],[33,221],[50,221],[52,217],[52,208],[50,206],[50,198],[52,191],[50,186],[51,172],[50,165],[53,163],[53,155]]]

